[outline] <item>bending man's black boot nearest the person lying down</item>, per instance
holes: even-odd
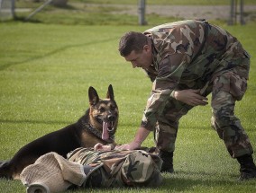
[[[160,158],[162,159],[161,172],[173,173],[173,152],[164,152],[160,150]]]

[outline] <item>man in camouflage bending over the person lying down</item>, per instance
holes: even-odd
[[[240,163],[240,180],[256,178],[251,143],[233,113],[235,101],[246,91],[250,69],[250,55],[236,38],[204,20],[187,20],[127,32],[119,51],[149,75],[152,90],[133,141],[117,148],[136,149],[154,131],[161,171],[173,172],[179,118],[197,105],[205,106],[212,92],[212,127]]]

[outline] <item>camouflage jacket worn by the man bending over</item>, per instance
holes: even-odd
[[[237,66],[238,73],[248,78],[249,66],[242,63],[242,58],[250,56],[241,43],[206,21],[166,23],[144,34],[151,37],[153,57],[146,70],[153,82],[152,91],[141,125],[149,130],[153,130],[175,89],[202,89],[198,82],[210,82]]]

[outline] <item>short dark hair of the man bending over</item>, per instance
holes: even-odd
[[[147,37],[141,32],[130,31],[123,35],[119,41],[119,52],[122,57],[126,57],[134,50],[136,53],[142,52],[147,44]]]

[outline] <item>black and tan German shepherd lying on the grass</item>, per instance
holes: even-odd
[[[101,100],[93,87],[88,89],[89,109],[74,124],[24,145],[14,157],[0,162],[0,178],[19,180],[23,169],[43,154],[56,152],[66,155],[78,147],[93,147],[97,143],[115,144],[114,133],[118,124],[118,107],[110,84],[106,99]]]

